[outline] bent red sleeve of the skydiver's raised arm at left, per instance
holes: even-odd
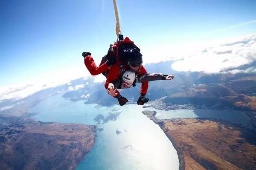
[[[107,63],[103,63],[100,66],[96,66],[96,63],[94,62],[93,58],[91,56],[87,56],[84,58],[84,64],[89,70],[91,75],[99,75],[103,72],[108,71],[109,67]]]

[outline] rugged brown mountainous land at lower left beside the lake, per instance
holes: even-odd
[[[96,125],[42,122],[32,120],[31,118],[3,118],[3,120],[7,119],[8,124],[6,124],[6,127],[3,126],[3,128],[1,128],[1,133],[3,133],[2,140],[7,146],[19,148],[15,150],[16,155],[22,156],[22,150],[26,149],[24,153],[26,166],[36,167],[47,164],[47,166],[52,167],[60,166],[62,169],[76,168],[81,160],[88,156],[88,153],[90,153],[94,147],[97,139]],[[24,146],[27,144],[28,138],[31,140],[29,143],[30,147],[26,148]],[[38,147],[36,147],[38,143],[46,147],[45,152],[42,152],[40,148],[38,149]],[[52,147],[55,148],[55,152],[49,153],[49,149]],[[8,150],[3,150],[3,148],[0,151],[3,154],[9,153]],[[37,157],[38,154],[41,154],[41,157]],[[30,157],[28,155],[33,155],[35,160],[41,163],[39,165],[33,164],[33,161],[29,160]],[[55,157],[56,155],[57,157]],[[56,160],[63,158],[62,156],[67,157],[65,157],[65,160],[61,160],[58,165],[55,164]],[[19,167],[22,166],[12,155],[10,158],[3,157],[3,160],[7,159],[9,159],[12,164],[5,164],[6,162],[4,162],[0,167],[7,166],[12,169],[13,164]]]

